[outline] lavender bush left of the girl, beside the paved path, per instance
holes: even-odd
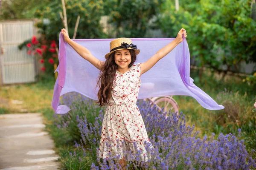
[[[61,115],[61,118],[57,117],[55,125],[69,133],[74,141],[90,140],[88,136],[84,138],[85,130],[92,128],[92,124],[97,122],[96,119],[102,121],[103,115],[100,116],[99,113],[105,112],[105,108],[100,108],[95,101],[76,92],[65,94],[61,104],[69,106],[71,111]],[[99,122],[99,126],[101,124],[102,122]],[[97,129],[100,128],[97,127]],[[86,142],[86,147],[90,147],[90,145],[94,144]]]

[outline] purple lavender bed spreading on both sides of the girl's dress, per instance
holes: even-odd
[[[120,169],[120,165],[116,163],[119,161],[114,161],[114,159],[119,160],[119,156],[99,159],[97,155],[103,120],[102,108],[93,105],[92,100],[79,95],[64,96],[63,102],[76,111],[61,116],[59,122],[63,122],[63,124],[59,126],[66,129],[70,128],[68,131],[71,132],[71,124],[70,122],[67,123],[66,120],[71,120],[72,115],[76,116],[76,125],[73,124],[73,126],[78,127],[81,138],[76,140],[75,146],[84,152],[85,157],[93,158],[91,169]],[[90,109],[87,109],[87,106]],[[244,141],[239,139],[240,129],[238,130],[238,137],[231,133],[227,135],[220,133],[218,139],[215,140],[215,134],[212,133],[209,140],[207,136],[204,136],[204,139],[199,139],[196,137],[199,132],[193,132],[194,126],[186,126],[183,113],[180,113],[179,116],[168,113],[172,116],[166,118],[167,113],[161,111],[159,113],[156,107],[151,108],[146,102],[138,101],[138,107],[153,147],[146,146],[150,155],[148,161],[140,159],[140,151],[135,158],[131,152],[127,153],[128,169],[139,169],[140,167],[153,170],[256,168],[256,160],[251,157],[255,151],[252,150],[251,153],[247,153],[243,144]],[[91,112],[91,109],[97,111]],[[73,122],[75,122],[74,119]]]

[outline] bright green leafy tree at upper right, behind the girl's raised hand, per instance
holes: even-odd
[[[184,0],[186,1],[186,0]],[[189,33],[192,56],[200,66],[230,71],[241,61],[256,62],[256,22],[250,16],[250,0],[194,0],[175,11],[163,11],[160,27],[169,37],[183,27]],[[180,3],[182,4],[182,3]]]

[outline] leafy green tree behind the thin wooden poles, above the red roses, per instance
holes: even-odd
[[[65,3],[68,31],[71,38],[78,15],[81,17],[76,34],[77,39],[106,37],[99,23],[101,16],[104,14],[102,0],[66,0]],[[42,22],[37,25],[39,28],[42,28],[42,34],[45,34],[48,38],[58,39],[61,28],[64,28],[60,16],[60,12],[62,11],[61,0],[56,0],[49,1],[46,6],[35,12],[36,17],[49,20],[49,22]]]

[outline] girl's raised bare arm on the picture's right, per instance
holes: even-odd
[[[169,52],[173,50],[173,48],[175,48],[180,42],[182,42],[182,34],[184,31],[185,29],[181,28],[175,40],[173,40],[168,45],[161,48],[159,51],[157,51],[156,54],[150,57],[147,61],[140,64],[140,69],[141,69],[140,76],[145,72],[147,72],[150,68],[152,68],[160,59],[165,57]],[[186,37],[186,31],[184,36]]]

